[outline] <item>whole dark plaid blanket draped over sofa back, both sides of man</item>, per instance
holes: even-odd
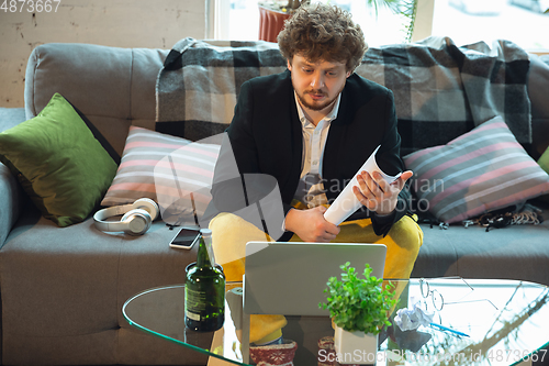
[[[446,144],[502,115],[531,142],[528,55],[514,43],[456,46],[448,37],[370,48],[356,73],[394,92],[402,155]],[[231,123],[240,85],[285,69],[274,43],[184,38],[157,80],[156,130],[192,141]]]

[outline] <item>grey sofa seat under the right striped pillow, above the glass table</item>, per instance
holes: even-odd
[[[412,277],[509,278],[549,285],[549,210],[539,225],[492,229],[422,224],[424,244]]]

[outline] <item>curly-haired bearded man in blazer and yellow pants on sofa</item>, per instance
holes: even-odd
[[[413,173],[403,171],[392,92],[354,74],[367,51],[360,27],[336,7],[301,7],[278,43],[288,70],[243,84],[227,129],[239,174],[276,178],[285,231],[279,241],[383,243],[384,277],[408,278],[423,241],[406,215],[405,182]],[[362,209],[339,226],[327,222],[326,206],[378,146],[381,170],[403,171],[400,178],[390,185],[361,171],[354,193]],[[214,185],[214,201],[227,196],[225,188]],[[265,241],[266,234],[226,212],[210,228],[227,280],[242,280],[246,243]],[[250,341],[267,343],[280,334],[283,321],[267,323]]]

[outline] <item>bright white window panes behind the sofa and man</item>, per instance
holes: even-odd
[[[313,2],[328,0],[313,0]],[[407,20],[388,8],[378,14],[367,0],[330,0],[351,12],[370,46],[405,41]],[[231,0],[231,40],[258,40],[258,0]],[[549,0],[419,0],[413,41],[449,36],[460,46],[493,40],[515,42],[528,51],[549,49]]]

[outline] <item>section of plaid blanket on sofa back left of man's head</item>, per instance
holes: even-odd
[[[179,41],[156,85],[156,131],[199,141],[225,131],[244,81],[281,73],[269,42]]]

